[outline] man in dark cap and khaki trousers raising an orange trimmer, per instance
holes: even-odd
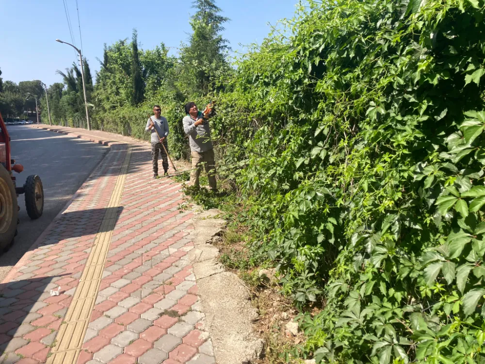
[[[192,156],[192,172],[190,182],[194,187],[199,187],[199,176],[204,165],[209,186],[212,191],[217,190],[215,180],[214,149],[210,141],[210,127],[206,116],[197,109],[194,102],[185,105],[185,116],[182,120],[183,130],[189,136],[189,144]]]

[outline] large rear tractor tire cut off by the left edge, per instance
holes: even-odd
[[[8,249],[17,230],[17,194],[10,173],[0,165],[0,251]]]

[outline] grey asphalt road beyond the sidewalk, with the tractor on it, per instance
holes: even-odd
[[[14,172],[17,187],[23,186],[29,175],[37,174],[44,186],[45,199],[43,215],[31,220],[25,210],[24,196],[18,197],[18,234],[13,247],[0,255],[0,282],[108,151],[99,144],[28,126],[9,125],[7,129],[12,141],[12,158],[24,166],[22,173]]]

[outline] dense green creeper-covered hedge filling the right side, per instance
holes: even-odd
[[[310,5],[214,120],[302,355],[484,363],[484,1]]]

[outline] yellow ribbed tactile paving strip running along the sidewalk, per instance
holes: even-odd
[[[101,283],[113,228],[116,223],[116,207],[119,207],[121,201],[130,156],[131,147],[128,146],[106,214],[96,235],[86,266],[82,271],[72,302],[65,314],[64,323],[57,333],[56,346],[52,348],[52,355],[49,357],[47,364],[73,364],[77,361]]]

